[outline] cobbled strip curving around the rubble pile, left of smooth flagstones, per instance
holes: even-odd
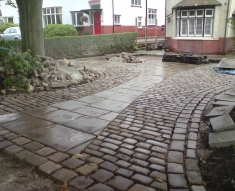
[[[93,58],[95,60],[95,58]],[[92,67],[100,72],[101,77],[93,83],[71,86],[49,92],[20,93],[0,96],[0,115],[52,105],[67,100],[75,100],[87,95],[118,86],[139,75],[140,70],[127,68],[125,65],[113,66],[108,61],[90,61],[81,65]]]

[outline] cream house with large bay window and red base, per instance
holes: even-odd
[[[235,0],[167,0],[166,47],[173,52],[226,54],[234,49]]]

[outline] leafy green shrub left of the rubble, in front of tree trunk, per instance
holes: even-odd
[[[27,90],[29,87],[28,78],[32,76],[35,71],[42,68],[41,59],[39,57],[32,57],[30,51],[23,53],[15,53],[8,48],[6,41],[0,41],[0,55],[3,62],[3,72],[7,73],[11,70],[14,75],[7,75],[3,81],[6,89]],[[3,48],[3,45],[5,46]]]

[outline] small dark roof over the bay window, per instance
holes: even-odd
[[[182,8],[182,7],[195,7],[195,6],[206,6],[206,5],[222,5],[217,0],[182,0],[179,3],[177,3],[173,9],[175,8]]]

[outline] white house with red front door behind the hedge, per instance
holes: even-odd
[[[5,6],[4,0],[0,9],[6,22],[19,22],[17,9]],[[48,24],[72,24],[79,34],[84,31],[90,34],[133,32],[137,18],[139,36],[145,34],[147,16],[148,36],[155,36],[156,18],[158,36],[164,36],[165,3],[161,0],[44,0],[42,14],[44,27]]]

